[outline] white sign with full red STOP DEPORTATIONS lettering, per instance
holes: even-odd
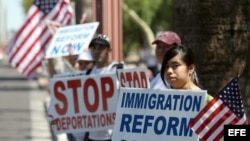
[[[118,101],[115,73],[51,79],[50,92],[48,118],[54,133],[114,127]]]

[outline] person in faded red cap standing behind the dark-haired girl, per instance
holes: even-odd
[[[165,52],[175,44],[180,45],[181,39],[175,32],[164,31],[156,37],[152,44],[156,44],[155,57],[157,58],[158,63],[161,65]],[[170,88],[170,85],[168,83],[164,84],[161,80],[160,73],[158,73],[150,82],[150,88],[166,89]]]

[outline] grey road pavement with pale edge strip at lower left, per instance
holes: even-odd
[[[0,60],[0,140],[52,141],[44,100],[47,91]]]

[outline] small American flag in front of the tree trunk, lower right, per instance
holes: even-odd
[[[224,125],[248,124],[238,77],[233,78],[189,123],[203,141],[224,139]]]

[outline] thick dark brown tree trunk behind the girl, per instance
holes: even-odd
[[[250,117],[250,2],[175,0],[174,30],[196,53],[200,82],[215,95],[237,73]]]

